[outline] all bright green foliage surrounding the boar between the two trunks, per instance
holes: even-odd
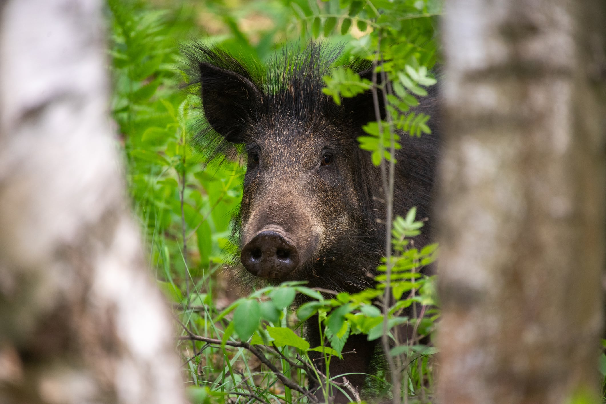
[[[346,354],[343,349],[350,335],[379,339],[384,319],[393,340],[390,354],[419,364],[404,371],[409,377],[408,392],[418,394],[430,388],[430,357],[436,350],[421,345],[419,337],[435,328],[435,279],[419,270],[435,259],[436,247],[419,251],[409,245],[409,237],[422,226],[414,211],[394,222],[396,253],[389,261],[389,283],[381,274],[375,288],[356,294],[329,296],[299,282],[288,282],[252,291],[235,301],[228,296],[223,270],[236,252],[230,242],[231,217],[242,197],[244,167],[230,159],[211,164],[191,147],[196,134],[191,122],[200,113],[200,105],[179,87],[184,78],[179,71],[178,44],[190,38],[221,42],[248,63],[266,60],[284,39],[307,41],[322,35],[326,41],[347,41],[346,58],[382,62],[374,84],[351,70],[337,69],[325,78],[324,89],[337,104],[342,97],[373,87],[379,96],[385,91],[387,118],[365,125],[368,136],[358,139],[379,165],[395,161],[390,148],[399,148],[403,133],[429,133],[429,117],[409,110],[418,104],[416,97],[424,94],[425,87],[435,83],[428,69],[436,59],[433,19],[439,5],[383,0],[321,4],[213,0],[203,5],[187,1],[171,5],[171,10],[155,10],[143,1],[108,0],[112,113],[127,162],[133,207],[147,238],[150,271],[177,311],[184,328],[182,338],[195,334],[213,341],[183,340],[179,345],[191,402],[250,399],[243,394],[255,394],[267,402],[306,402],[309,398],[297,397],[299,393],[284,386],[276,371],[253,364],[250,349],[238,344],[250,340],[279,373],[305,386],[310,375],[320,377],[314,368],[306,367],[312,363],[310,353],[322,353],[330,369],[331,357]],[[247,24],[258,19],[258,27],[245,28],[244,18]],[[200,27],[199,20],[205,25]],[[382,75],[386,75],[385,81]],[[385,261],[379,270],[387,264]],[[387,285],[396,300],[383,313],[378,302]],[[297,295],[305,303],[295,316],[291,309]],[[422,316],[408,316],[411,308],[424,310]],[[302,321],[316,314],[322,345],[311,347],[298,330]],[[415,338],[402,340],[402,326],[415,329]]]

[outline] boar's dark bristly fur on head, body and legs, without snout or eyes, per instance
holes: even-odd
[[[244,194],[236,238],[242,247],[267,225],[279,225],[298,240],[302,254],[289,274],[261,279],[242,270],[245,282],[307,280],[311,287],[355,293],[373,285],[373,275],[385,251],[384,194],[381,174],[370,153],[358,147],[362,125],[375,121],[370,92],[336,105],[322,93],[322,76],[330,75],[340,53],[319,44],[290,48],[267,67],[244,67],[218,48],[193,45],[184,50],[190,84],[202,96],[206,121],[197,143],[210,157],[244,145],[248,154]],[[370,65],[347,65],[370,79]],[[431,207],[438,153],[436,94],[421,100],[417,111],[431,114],[434,134],[402,135],[395,176],[394,212],[404,215],[416,206],[419,217]],[[333,162],[320,159],[330,153]],[[253,164],[251,156],[258,156]],[[422,246],[430,226],[415,240]],[[317,319],[308,320],[307,338],[319,345]],[[315,345],[314,345],[315,344]],[[367,373],[375,342],[350,336],[344,360],[331,362],[331,374]],[[364,376],[348,379],[360,388]],[[336,402],[344,397],[337,396]]]

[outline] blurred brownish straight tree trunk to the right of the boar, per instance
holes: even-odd
[[[605,21],[604,0],[447,2],[441,403],[598,391]]]

